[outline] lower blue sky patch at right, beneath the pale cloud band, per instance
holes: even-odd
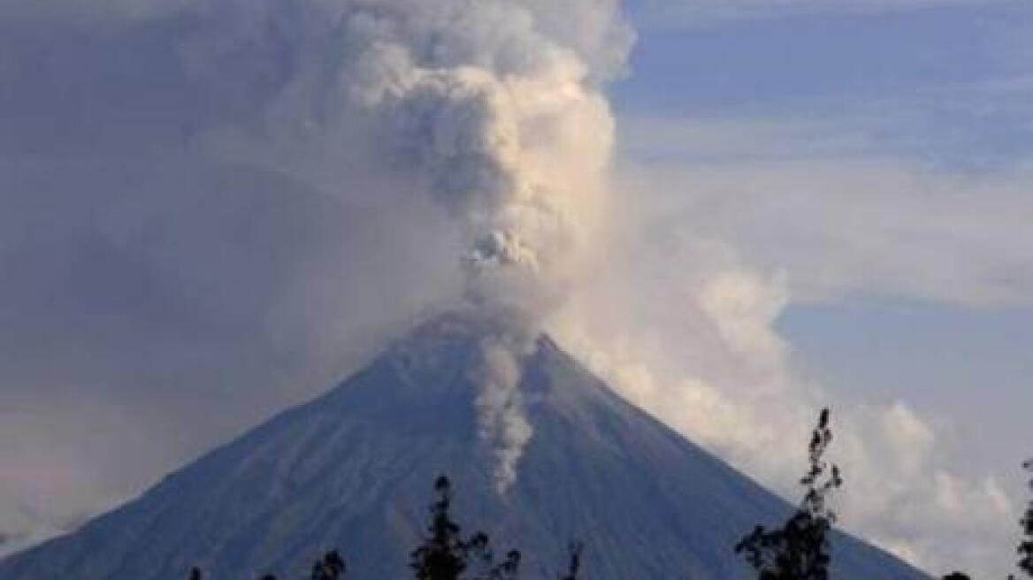
[[[779,321],[797,361],[842,391],[902,398],[950,432],[972,472],[1029,454],[1033,312],[904,298],[795,304]]]

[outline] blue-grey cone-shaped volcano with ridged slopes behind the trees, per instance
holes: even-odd
[[[592,580],[748,578],[732,552],[792,506],[632,407],[550,337],[519,357],[533,434],[500,491],[482,437],[477,374],[494,322],[436,318],[321,397],[169,475],[79,530],[0,561],[5,580],[301,578],[337,548],[348,578],[409,577],[431,486],[451,479],[453,517],[555,578],[568,542]],[[846,535],[837,579],[928,578]]]

